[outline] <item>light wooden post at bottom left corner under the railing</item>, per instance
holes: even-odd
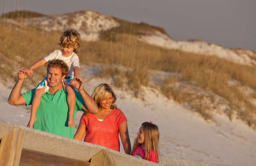
[[[19,166],[24,130],[13,128],[1,138],[0,165]]]

